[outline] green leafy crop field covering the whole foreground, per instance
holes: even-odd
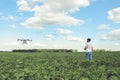
[[[120,52],[0,52],[0,80],[120,80]]]

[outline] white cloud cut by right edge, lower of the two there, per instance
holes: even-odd
[[[106,40],[120,40],[120,29],[112,30],[101,38]]]

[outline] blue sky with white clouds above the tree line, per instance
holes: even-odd
[[[120,0],[2,0],[0,50],[120,51]],[[18,39],[30,39],[22,44]]]

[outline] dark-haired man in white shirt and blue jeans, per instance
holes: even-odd
[[[84,50],[86,50],[86,60],[91,61],[92,60],[92,51],[93,51],[93,46],[91,44],[91,38],[87,38],[87,43],[84,47]]]

